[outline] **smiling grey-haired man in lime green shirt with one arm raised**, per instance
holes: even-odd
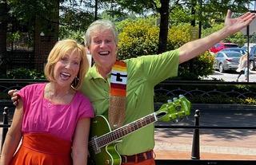
[[[173,51],[128,59],[121,65],[116,62],[118,33],[114,25],[103,20],[93,22],[86,31],[85,40],[94,66],[86,74],[82,92],[90,98],[95,114],[106,116],[113,129],[129,124],[154,112],[154,86],[168,77],[177,76],[179,64],[238,32],[254,18],[255,15],[250,13],[231,18],[231,11],[228,10],[225,26],[217,32],[190,41]],[[121,68],[124,75],[117,73],[116,68]],[[121,83],[116,84],[117,80]],[[153,124],[131,133],[117,144],[122,165],[154,164],[153,148]]]

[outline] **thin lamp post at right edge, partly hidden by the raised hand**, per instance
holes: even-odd
[[[250,1],[248,4],[248,10],[251,13],[256,13],[256,1]],[[246,35],[247,35],[247,82],[249,82],[249,73],[250,73],[250,25],[246,27]]]

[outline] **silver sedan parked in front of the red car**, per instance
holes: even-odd
[[[226,70],[238,69],[239,59],[242,53],[235,51],[219,51],[215,54],[214,69],[223,73]]]

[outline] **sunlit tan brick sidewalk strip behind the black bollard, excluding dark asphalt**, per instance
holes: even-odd
[[[162,130],[156,132],[154,147],[156,159],[191,159],[193,139],[191,135],[166,138],[164,134]],[[231,141],[200,136],[200,159],[256,160],[254,140],[255,136]]]

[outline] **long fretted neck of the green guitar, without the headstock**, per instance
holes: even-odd
[[[113,132],[109,132],[103,136],[97,137],[95,140],[98,143],[98,147],[104,147],[109,143],[113,143],[114,141],[121,139],[124,136],[127,136],[131,132],[135,132],[136,130],[146,127],[148,124],[152,124],[157,121],[157,117],[154,113],[145,116],[139,120],[135,120],[130,124],[126,124],[121,128],[115,129]]]

